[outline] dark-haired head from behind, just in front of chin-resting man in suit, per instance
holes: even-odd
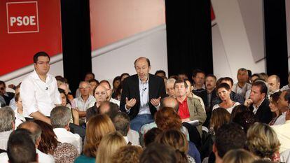
[[[242,128],[244,129],[244,133],[247,133],[249,127],[251,127],[251,125],[254,125],[257,120],[253,112],[242,111],[241,113],[237,113],[237,115],[235,115],[235,118],[233,118],[232,122],[235,122],[242,126]]]

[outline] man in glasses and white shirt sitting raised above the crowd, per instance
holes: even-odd
[[[23,114],[27,118],[42,120],[50,124],[50,111],[62,104],[60,92],[57,90],[55,77],[48,74],[50,57],[46,52],[34,55],[34,71],[29,74],[20,86],[20,97]]]

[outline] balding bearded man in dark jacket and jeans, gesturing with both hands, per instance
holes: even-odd
[[[124,80],[120,99],[120,110],[130,116],[130,127],[139,131],[142,125],[153,122],[153,116],[166,96],[163,78],[149,73],[150,61],[139,57],[134,62],[136,75]]]

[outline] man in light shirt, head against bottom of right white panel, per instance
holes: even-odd
[[[233,85],[233,92],[240,94],[242,97],[246,96],[246,92],[251,90],[251,85],[247,83],[249,74],[247,69],[241,68],[237,70],[237,83]]]

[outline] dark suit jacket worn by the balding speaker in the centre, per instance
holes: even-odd
[[[126,97],[129,100],[135,98],[137,102],[130,109],[129,113],[130,119],[132,120],[136,117],[136,115],[138,115],[140,108],[139,78],[136,74],[125,78],[123,82],[123,90],[120,99],[120,111],[126,112]],[[158,99],[158,97],[163,98],[165,96],[166,92],[163,78],[149,74],[149,107],[151,115],[154,115],[157,111],[156,107],[150,103],[151,99]]]

